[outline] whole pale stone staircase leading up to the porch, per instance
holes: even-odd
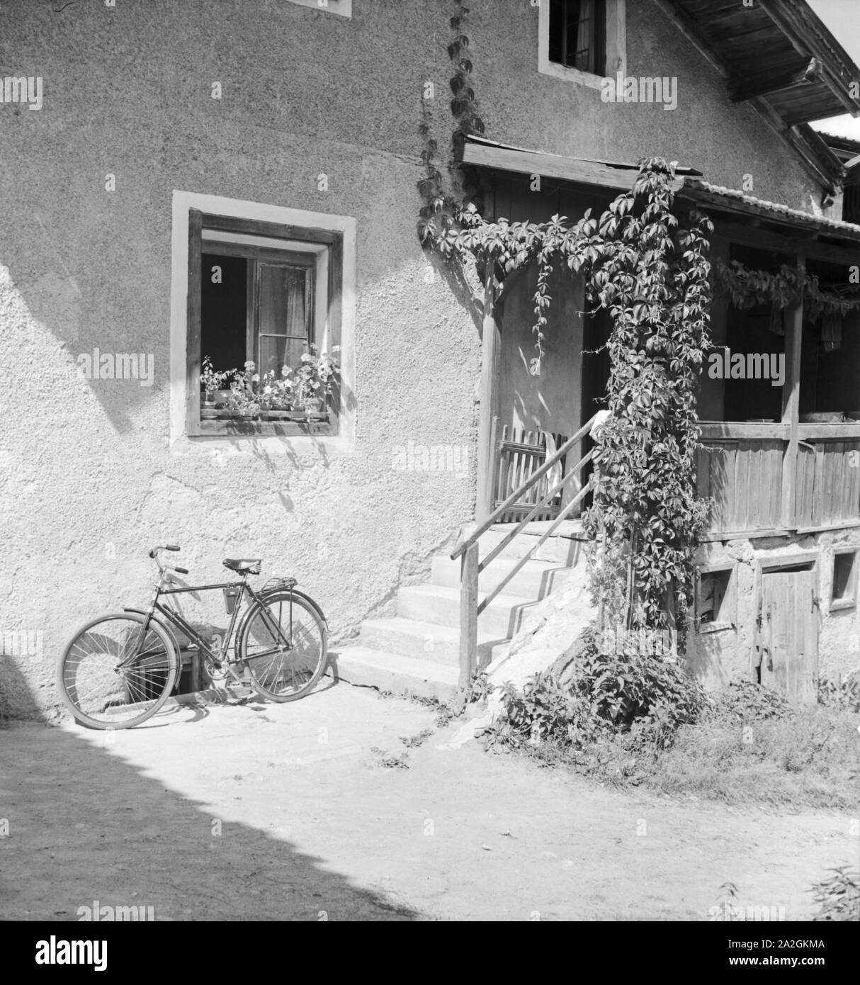
[[[481,538],[482,558],[512,526],[500,524]],[[529,524],[490,562],[479,583],[482,601],[549,526]],[[579,536],[578,522],[562,523],[481,614],[479,667],[506,652],[529,611],[562,583],[579,558]],[[358,640],[332,647],[334,676],[354,685],[449,700],[459,677],[459,586],[460,559],[451,560],[450,551],[436,554],[426,584],[398,589],[395,616],[365,620]]]

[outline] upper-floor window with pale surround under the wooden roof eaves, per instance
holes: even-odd
[[[625,71],[626,0],[544,0],[538,10],[539,72],[599,89]]]

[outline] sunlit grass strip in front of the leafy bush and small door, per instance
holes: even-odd
[[[584,741],[535,742],[524,738],[524,726],[519,734],[502,727],[488,735],[488,745],[620,788],[732,805],[856,810],[858,728],[853,702],[797,707],[771,691],[740,684],[711,698],[668,742],[665,732],[654,741],[642,723],[625,731],[606,728]]]

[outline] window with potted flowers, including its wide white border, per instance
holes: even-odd
[[[253,436],[273,454],[302,446],[285,437],[351,451],[355,220],[184,191],[173,192],[172,214],[171,448],[226,450],[200,440],[214,437],[241,450]],[[220,374],[244,374],[249,361],[258,378],[248,371],[232,395]]]

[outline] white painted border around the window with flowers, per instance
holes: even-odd
[[[185,381],[188,339],[188,212],[199,209],[214,216],[252,219],[282,226],[327,230],[343,234],[343,283],[341,285],[341,407],[336,435],[193,436],[185,433]],[[261,202],[173,191],[170,239],[170,431],[172,454],[213,451],[260,451],[278,454],[311,451],[350,452],[355,447],[356,412],[356,220],[324,212],[304,212]],[[352,406],[351,406],[352,405]]]

